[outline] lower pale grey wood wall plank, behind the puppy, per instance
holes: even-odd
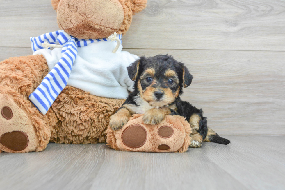
[[[136,55],[170,53],[194,79],[182,99],[203,108],[220,135],[285,135],[285,52],[124,49]],[[30,48],[0,48],[3,60]]]

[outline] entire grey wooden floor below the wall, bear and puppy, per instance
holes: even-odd
[[[228,137],[186,153],[116,151],[105,144],[54,144],[1,153],[0,189],[285,189],[284,136]]]

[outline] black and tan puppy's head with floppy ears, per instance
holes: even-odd
[[[168,55],[141,57],[127,69],[129,77],[135,80],[135,91],[156,108],[174,102],[193,79],[183,63]]]

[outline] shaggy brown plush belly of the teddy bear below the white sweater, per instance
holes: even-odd
[[[67,86],[51,109],[56,123],[51,128],[51,142],[89,144],[106,142],[105,130],[110,116],[124,100],[91,95]]]

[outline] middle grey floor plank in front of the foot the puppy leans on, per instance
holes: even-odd
[[[99,171],[106,180],[95,178],[91,189],[247,189],[204,154],[192,149],[185,154],[110,151]],[[115,183],[108,183],[110,176]]]

